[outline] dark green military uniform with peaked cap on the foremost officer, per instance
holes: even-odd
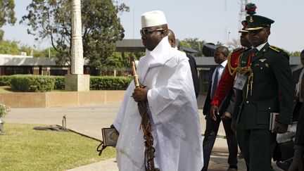
[[[274,23],[260,15],[248,16],[246,20],[249,32]],[[249,170],[268,171],[276,142],[276,134],[269,131],[270,113],[279,113],[278,122],[290,124],[293,77],[289,56],[281,49],[267,43],[255,56],[250,57],[251,53],[251,49],[244,51],[239,58],[239,68],[248,66],[249,70],[239,70],[246,73],[247,82],[236,96],[236,137]]]

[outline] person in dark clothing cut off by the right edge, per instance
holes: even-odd
[[[301,61],[302,65],[304,65],[304,50],[300,53],[300,61]],[[302,82],[299,82],[299,80],[300,80],[300,78],[303,77],[303,74],[304,74],[303,67],[298,69],[298,70],[293,71],[293,80],[294,80],[294,83],[296,84],[296,92],[297,92],[297,94],[296,94],[296,106],[293,109],[293,121],[298,120],[298,116],[300,114],[300,108],[301,108],[302,103],[303,103],[303,99],[299,98],[300,84],[302,84]]]

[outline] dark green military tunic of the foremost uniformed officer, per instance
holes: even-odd
[[[250,51],[245,51],[240,57],[239,65],[245,67]],[[270,113],[279,113],[279,122],[291,123],[293,113],[294,84],[289,66],[289,56],[280,49],[269,44],[251,58],[253,70],[253,89],[246,85],[243,91],[236,94],[234,112],[239,113],[236,120],[241,129],[269,129]],[[280,98],[279,98],[280,96]]]

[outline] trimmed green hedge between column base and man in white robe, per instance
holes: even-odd
[[[125,90],[132,77],[90,77],[90,89]]]

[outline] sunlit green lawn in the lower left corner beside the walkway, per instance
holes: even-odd
[[[45,125],[4,124],[0,170],[68,170],[115,157],[108,147],[98,156],[99,141],[72,132],[34,130]]]

